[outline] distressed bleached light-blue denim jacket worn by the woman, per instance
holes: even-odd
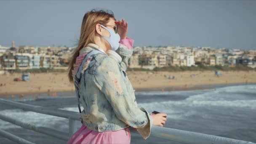
[[[80,54],[99,46],[88,44]],[[138,108],[133,87],[125,72],[133,51],[120,44],[118,63],[107,54],[89,57],[83,66],[79,84],[83,123],[93,131],[118,131],[129,126],[136,128],[143,139],[151,133],[152,117],[143,107]]]

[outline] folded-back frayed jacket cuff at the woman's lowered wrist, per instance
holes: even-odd
[[[151,115],[149,115],[149,112],[147,112],[146,109],[144,109],[143,107],[141,107],[140,109],[143,112],[146,113],[148,123],[143,128],[136,128],[136,130],[141,134],[143,139],[147,139],[150,136],[150,133],[151,133],[151,128],[152,128],[152,125],[153,125],[153,119],[152,119]]]

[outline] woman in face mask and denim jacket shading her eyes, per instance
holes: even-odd
[[[125,72],[134,42],[127,33],[128,23],[124,19],[117,21],[112,11],[85,13],[68,74],[79,90],[83,124],[68,144],[129,144],[129,127],[147,139],[152,125],[165,124],[167,114],[149,114],[137,106]],[[97,53],[89,55],[93,50]]]

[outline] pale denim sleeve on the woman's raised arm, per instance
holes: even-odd
[[[133,50],[129,50],[125,45],[123,44],[119,44],[119,48],[117,48],[117,50],[115,51],[116,53],[118,53],[121,58],[121,67],[123,68],[124,71],[126,71],[127,67],[128,67],[128,61],[131,58],[132,54],[133,54]]]

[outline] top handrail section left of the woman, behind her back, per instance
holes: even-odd
[[[79,117],[80,117],[79,112],[71,112],[71,111],[62,110],[62,109],[51,109],[51,108],[47,108],[47,107],[40,107],[40,106],[35,106],[35,105],[30,105],[30,104],[24,104],[21,102],[11,101],[11,100],[7,100],[7,99],[0,98],[0,103],[8,104],[8,105],[11,105],[13,107],[18,107],[23,110],[38,112],[38,113],[45,114],[45,115],[53,115],[56,117],[64,117],[67,119],[70,117],[72,120],[79,120]]]

